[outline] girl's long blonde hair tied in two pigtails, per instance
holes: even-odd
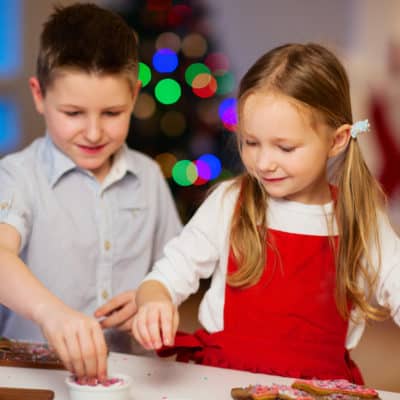
[[[353,123],[347,74],[336,56],[320,45],[277,47],[259,58],[245,74],[238,93],[239,149],[243,105],[249,95],[260,91],[274,91],[296,100],[334,129]],[[380,319],[387,311],[373,305],[380,265],[372,265],[370,248],[376,246],[380,259],[378,213],[384,207],[385,197],[362,157],[357,140],[350,140],[345,152],[337,158],[331,183],[338,189],[335,201],[340,238],[335,252],[338,310],[348,317],[352,304],[363,316]],[[236,185],[239,196],[230,244],[239,268],[228,276],[228,284],[245,287],[260,279],[266,262],[265,243],[268,246],[273,243],[267,235],[268,196],[262,185],[249,172],[238,177]]]

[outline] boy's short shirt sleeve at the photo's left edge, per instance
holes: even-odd
[[[32,210],[27,182],[18,165],[0,162],[0,223],[13,226],[21,236],[20,251],[31,231]]]

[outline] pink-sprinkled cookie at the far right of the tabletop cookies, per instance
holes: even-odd
[[[367,388],[365,386],[356,385],[355,383],[351,383],[345,379],[299,379],[292,384],[292,387],[318,396],[342,394],[353,397],[378,398],[378,392],[376,390]],[[346,399],[341,396],[336,396],[335,398],[332,398],[332,400]]]

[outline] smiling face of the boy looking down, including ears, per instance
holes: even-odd
[[[57,74],[45,96],[36,78],[30,86],[54,144],[101,182],[125,142],[140,85],[132,90],[123,75],[68,69]]]

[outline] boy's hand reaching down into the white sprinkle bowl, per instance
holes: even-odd
[[[58,303],[38,307],[34,320],[65,367],[81,382],[107,378],[107,346],[94,318]]]

